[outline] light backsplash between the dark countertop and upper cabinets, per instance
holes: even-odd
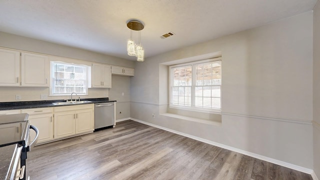
[[[71,95],[49,96],[49,87],[0,87],[0,92],[0,102],[67,99]],[[41,94],[47,95],[47,98],[41,99]],[[19,100],[15,99],[16,95],[20,96]],[[109,89],[88,88],[88,95],[78,96],[80,98],[108,97]]]

